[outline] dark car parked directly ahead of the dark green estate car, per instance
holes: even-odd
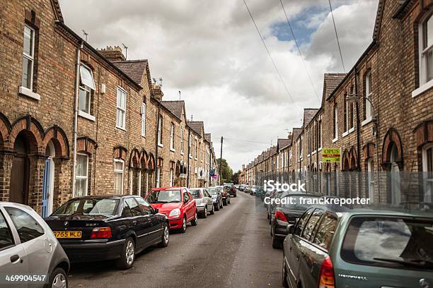
[[[308,205],[301,204],[299,198],[317,198],[314,194],[306,194],[301,192],[284,193],[281,198],[290,197],[293,204],[277,204],[275,205],[274,214],[271,215],[271,236],[272,247],[281,248],[284,238],[287,236],[287,226],[296,224],[296,221],[301,217]]]

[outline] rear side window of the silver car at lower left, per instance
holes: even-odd
[[[6,207],[5,209],[16,227],[21,243],[33,240],[45,233],[35,218],[31,217],[27,212],[12,207]]]

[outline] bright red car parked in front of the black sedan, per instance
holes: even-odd
[[[180,229],[185,233],[186,225],[197,225],[197,207],[186,187],[153,188],[146,201],[158,212],[167,216],[170,229]]]

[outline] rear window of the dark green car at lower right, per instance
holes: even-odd
[[[361,265],[433,270],[433,220],[354,217],[341,256]]]

